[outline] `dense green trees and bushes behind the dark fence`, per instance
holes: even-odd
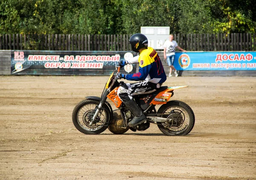
[[[253,0],[2,0],[0,34],[255,33]]]

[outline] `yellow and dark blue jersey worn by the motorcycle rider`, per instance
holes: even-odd
[[[148,81],[152,83],[163,83],[166,81],[166,73],[164,72],[162,62],[153,48],[148,47],[140,52],[139,56],[139,72],[127,74],[125,79],[131,81]]]

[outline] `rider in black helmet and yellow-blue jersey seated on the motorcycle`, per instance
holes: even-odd
[[[148,39],[144,34],[137,33],[132,35],[129,43],[131,44],[132,51],[139,53],[139,56],[135,56],[128,61],[121,60],[120,66],[122,68],[126,64],[137,63],[140,67],[139,72],[134,74],[118,73],[117,76],[119,79],[123,78],[140,82],[123,83],[119,87],[117,95],[131,113],[134,114],[134,118],[128,123],[128,126],[135,127],[144,123],[146,117],[132,96],[156,91],[166,81],[166,73],[157,52],[153,48],[148,47]]]

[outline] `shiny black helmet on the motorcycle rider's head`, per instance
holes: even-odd
[[[148,39],[144,34],[134,34],[131,36],[129,43],[131,44],[132,51],[138,53],[141,48],[148,47]]]

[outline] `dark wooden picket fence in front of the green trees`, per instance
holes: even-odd
[[[187,51],[256,51],[256,34],[174,34]],[[0,50],[131,51],[131,34],[0,34]]]

